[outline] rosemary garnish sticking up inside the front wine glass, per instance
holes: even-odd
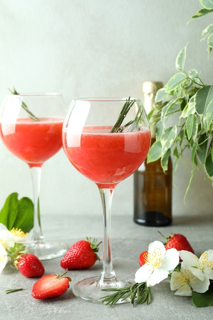
[[[143,110],[141,110],[140,108],[138,108],[137,110],[137,114],[134,120],[129,121],[127,124],[122,126],[122,122],[124,121],[127,113],[129,112],[129,110],[131,109],[131,107],[133,106],[133,104],[135,103],[135,99],[134,100],[130,100],[130,97],[126,100],[121,113],[119,115],[119,118],[117,119],[116,123],[114,124],[114,126],[112,127],[110,132],[122,132],[124,131],[124,129],[126,127],[129,127],[129,131],[134,131],[134,129],[137,127],[139,120],[141,118],[141,115],[143,113]]]

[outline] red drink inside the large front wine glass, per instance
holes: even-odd
[[[114,188],[144,162],[150,130],[110,133],[110,127],[85,127],[81,133],[63,131],[69,161],[99,188]]]

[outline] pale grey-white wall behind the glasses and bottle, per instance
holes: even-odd
[[[196,68],[212,84],[202,30],[213,16],[187,21],[198,0],[0,0],[0,100],[19,92],[143,98],[141,83],[166,83],[188,42],[186,71]],[[187,156],[190,161],[190,155]],[[186,159],[187,159],[186,157]],[[196,174],[185,204],[190,166],[174,179],[173,215],[212,213],[213,189]],[[0,207],[12,192],[32,198],[28,166],[0,144]],[[69,164],[63,151],[43,165],[41,214],[102,212],[97,187]],[[113,214],[133,216],[133,179],[116,187]]]

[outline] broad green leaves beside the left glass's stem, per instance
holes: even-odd
[[[23,232],[30,232],[33,228],[33,202],[28,197],[18,200],[16,192],[10,194],[0,211],[0,222],[3,223],[8,230],[20,228]]]

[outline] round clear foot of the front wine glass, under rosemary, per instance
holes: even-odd
[[[124,279],[119,277],[119,279],[110,282],[104,283],[102,285],[99,284],[100,277],[91,277],[84,280],[81,280],[74,284],[73,293],[82,300],[103,304],[102,297],[108,295],[110,293],[114,293],[114,291],[102,291],[102,289],[119,289],[133,285],[135,282],[131,279]],[[117,304],[120,303],[128,303],[130,299],[126,300],[120,299],[117,301]]]

